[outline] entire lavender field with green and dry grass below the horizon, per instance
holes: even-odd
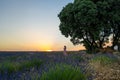
[[[0,80],[120,80],[120,53],[0,53]]]

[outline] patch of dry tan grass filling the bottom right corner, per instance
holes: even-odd
[[[120,60],[109,65],[103,65],[100,61],[90,62],[89,66],[95,72],[94,80],[120,80]]]

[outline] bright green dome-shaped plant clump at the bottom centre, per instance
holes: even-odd
[[[86,77],[78,67],[57,64],[50,68],[48,72],[44,72],[40,80],[86,80]]]

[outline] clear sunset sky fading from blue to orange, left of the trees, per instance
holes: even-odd
[[[59,31],[57,15],[73,0],[0,0],[0,50],[68,50],[73,46]]]

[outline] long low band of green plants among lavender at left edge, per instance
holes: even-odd
[[[10,60],[3,61],[0,63],[0,72],[4,74],[13,73],[21,70],[30,69],[32,67],[39,67],[42,64],[42,61],[39,59],[27,60],[22,62],[12,62]]]

